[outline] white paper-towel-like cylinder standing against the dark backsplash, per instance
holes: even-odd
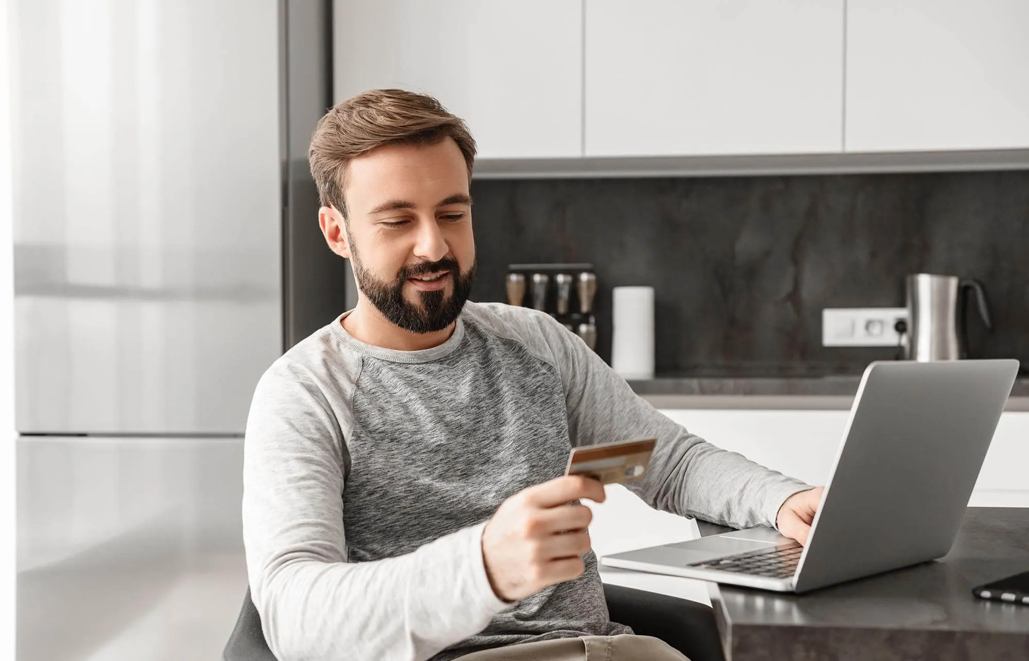
[[[625,378],[653,378],[653,287],[615,287],[611,367]]]

